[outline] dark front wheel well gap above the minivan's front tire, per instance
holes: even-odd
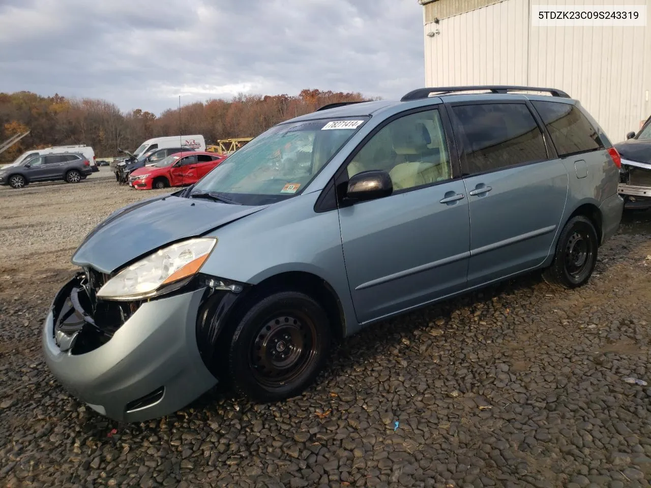
[[[288,271],[262,280],[253,287],[252,291],[266,293],[279,290],[300,291],[318,301],[326,310],[333,336],[337,340],[344,338],[346,334],[344,309],[337,293],[326,280],[305,271]]]

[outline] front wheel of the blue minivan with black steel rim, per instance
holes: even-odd
[[[236,392],[260,403],[286,400],[311,385],[331,342],[325,310],[296,291],[253,301],[236,326],[228,351]]]

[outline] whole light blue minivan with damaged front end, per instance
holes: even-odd
[[[585,284],[620,222],[619,166],[553,88],[327,105],[94,228],[44,355],[69,392],[126,422],[217,382],[290,398],[333,340],[378,321],[535,269]]]

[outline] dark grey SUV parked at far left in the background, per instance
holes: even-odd
[[[81,153],[46,154],[0,169],[0,185],[22,188],[28,183],[56,180],[79,183],[91,173],[90,161]]]

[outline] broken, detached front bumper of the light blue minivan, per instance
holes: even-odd
[[[197,348],[204,291],[102,303],[79,273],[57,293],[45,321],[46,363],[66,390],[114,420],[174,413],[217,383]]]

